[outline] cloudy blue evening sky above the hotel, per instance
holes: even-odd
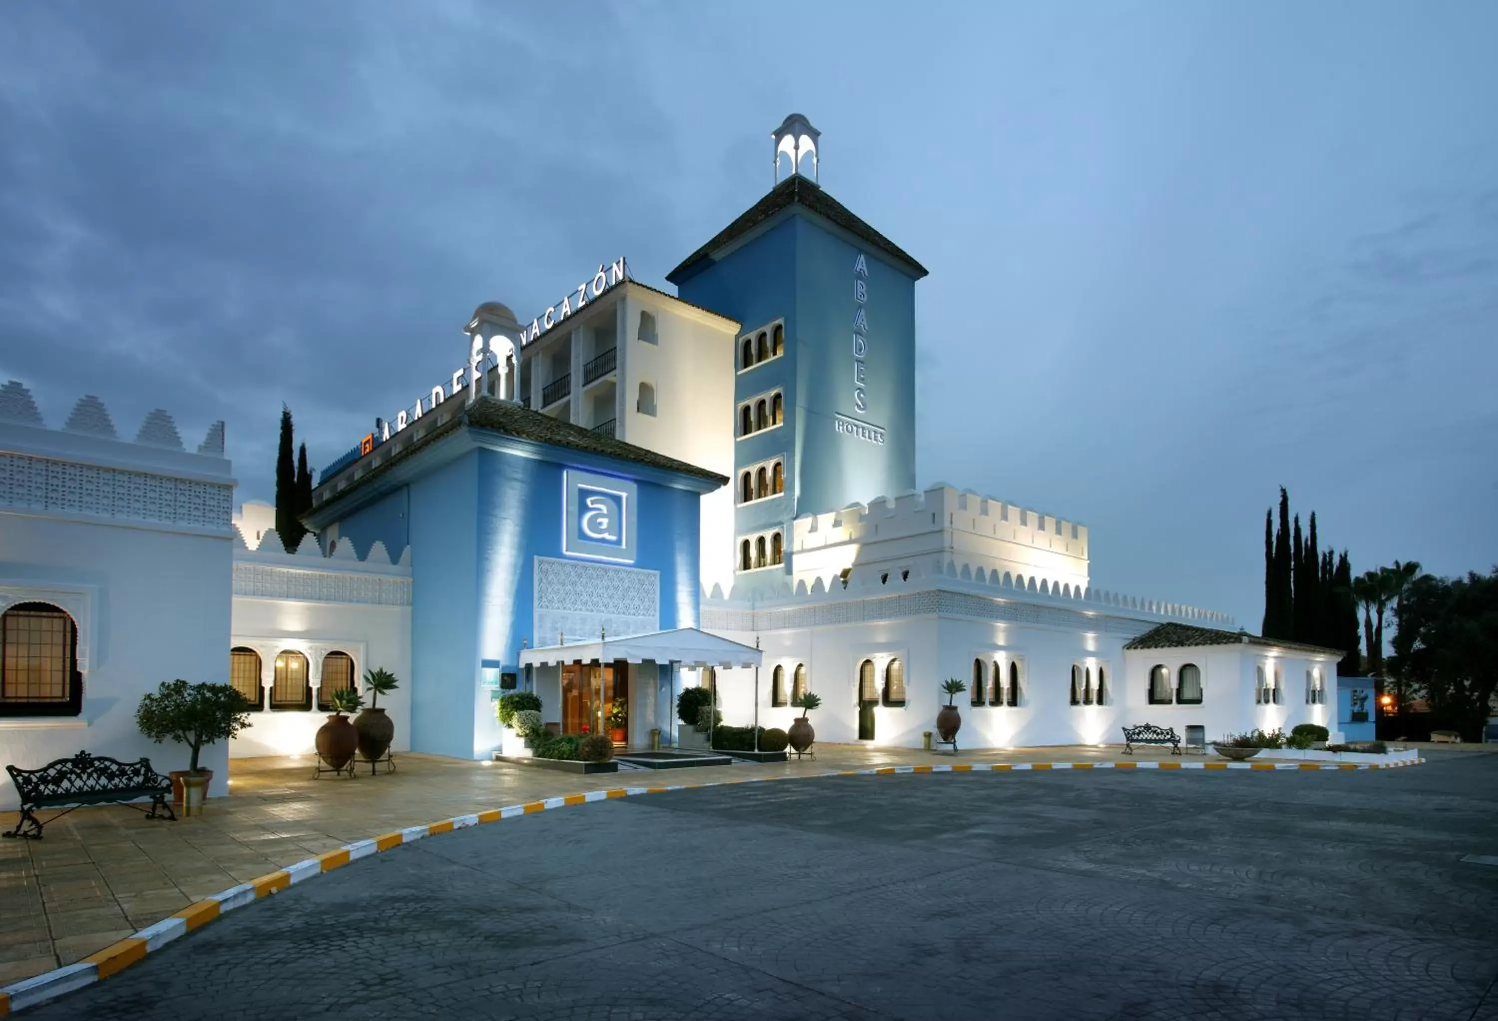
[[[921,484],[1257,630],[1279,484],[1354,570],[1498,562],[1495,39],[1488,0],[12,3],[0,381],[225,418],[268,499],[282,402],[324,465],[479,301],[673,289],[795,109],[930,270]]]

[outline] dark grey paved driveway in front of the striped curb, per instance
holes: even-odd
[[[34,1018],[1498,1018],[1498,757],[804,780],[400,847]]]

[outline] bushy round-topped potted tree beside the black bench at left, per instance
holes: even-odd
[[[156,744],[168,738],[187,745],[187,769],[172,769],[172,799],[184,816],[202,811],[208,796],[211,769],[198,766],[204,745],[228,741],[250,726],[250,703],[228,684],[187,684],[162,681],[156,691],[141,696],[135,726]]]

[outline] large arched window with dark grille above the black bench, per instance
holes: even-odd
[[[0,717],[76,717],[84,708],[78,625],[51,603],[0,616]]]

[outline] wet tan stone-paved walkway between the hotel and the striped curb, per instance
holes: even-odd
[[[1203,766],[1164,750],[1025,748],[951,756],[903,748],[821,745],[816,760],[575,775],[401,756],[392,775],[312,780],[310,757],[234,760],[231,796],[177,823],[126,807],[79,810],[40,841],[0,841],[0,913],[22,919],[0,940],[0,987],[70,966],[193,903],[379,832],[421,828],[503,804],[622,784],[698,784],[810,777],[852,769],[1031,766]],[[1225,763],[1213,763],[1222,766]],[[0,813],[0,826],[15,813]]]

